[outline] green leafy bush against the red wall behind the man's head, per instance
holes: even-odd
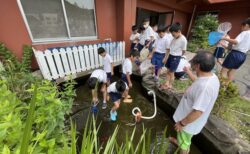
[[[216,31],[218,26],[217,16],[211,14],[198,16],[191,30],[192,35],[188,43],[188,51],[195,52],[198,49],[210,48],[208,34],[211,31]]]

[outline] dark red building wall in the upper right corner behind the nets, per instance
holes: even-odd
[[[248,0],[224,4],[198,6],[197,11],[218,11],[219,22],[231,22],[232,29],[229,35],[235,38],[241,31],[241,22],[250,17],[250,3]]]

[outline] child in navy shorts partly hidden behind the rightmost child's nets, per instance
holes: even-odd
[[[230,39],[228,34],[226,34],[224,37]],[[216,45],[214,57],[217,59],[217,64],[219,65],[222,65],[222,58],[226,48],[228,48],[228,42],[225,40],[220,40]]]

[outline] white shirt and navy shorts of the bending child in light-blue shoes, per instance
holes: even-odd
[[[116,89],[116,82],[111,83],[108,88],[107,88],[107,92],[110,96],[110,100],[115,103],[116,101],[118,101],[119,99],[122,98],[122,93],[118,92]],[[125,83],[126,85],[126,89],[128,89],[128,85]]]

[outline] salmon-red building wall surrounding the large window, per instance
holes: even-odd
[[[96,21],[97,21],[97,40],[79,40],[70,42],[50,42],[32,44],[28,31],[26,29],[23,17],[20,13],[17,0],[8,0],[1,2],[0,5],[0,42],[14,52],[21,59],[22,46],[24,44],[32,45],[38,50],[44,50],[48,47],[69,46],[104,42],[104,39],[111,38],[117,40],[117,9],[116,0],[95,0]],[[122,40],[122,39],[120,39]],[[119,40],[119,41],[120,41]]]

